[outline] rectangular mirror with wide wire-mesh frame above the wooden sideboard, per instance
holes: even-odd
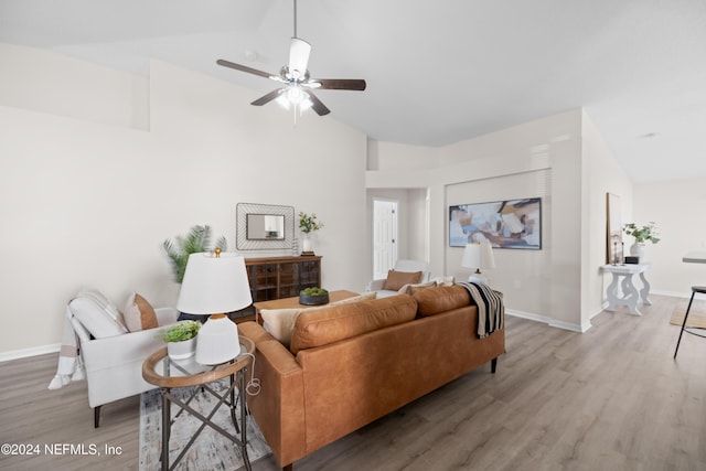
[[[291,249],[295,239],[295,208],[275,204],[238,203],[235,233],[238,250]]]

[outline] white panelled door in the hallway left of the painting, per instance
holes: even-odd
[[[397,202],[373,200],[373,278],[387,278],[397,261]]]

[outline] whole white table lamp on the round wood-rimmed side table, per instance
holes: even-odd
[[[196,362],[216,365],[240,353],[238,328],[227,315],[250,306],[250,283],[245,259],[233,253],[191,254],[179,292],[176,309],[211,315],[199,330]]]

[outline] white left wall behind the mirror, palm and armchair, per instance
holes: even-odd
[[[238,202],[315,212],[325,224],[315,245],[323,286],[367,282],[360,131],[313,114],[295,126],[275,105],[249,106],[257,93],[164,63],[150,71],[151,130],[106,124],[81,109],[98,94],[99,107],[124,115],[125,82],[113,79],[121,73],[85,74],[96,66],[13,46],[0,45],[0,57],[14,64],[2,71],[12,101],[0,95],[0,355],[54,347],[64,307],[83,286],[120,307],[130,290],[173,306],[178,285],[162,240],[210,224],[234,249]],[[72,92],[36,109],[33,95],[51,89],[55,73]],[[33,79],[22,86],[25,77]]]

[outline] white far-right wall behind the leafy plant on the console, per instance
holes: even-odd
[[[702,157],[699,157],[702,158]],[[645,258],[652,261],[648,279],[652,291],[691,296],[691,287],[706,285],[706,265],[685,264],[689,250],[706,250],[706,179],[641,183],[634,188],[634,218],[638,225],[654,221],[662,239],[645,245]],[[630,236],[624,240],[632,244]]]

